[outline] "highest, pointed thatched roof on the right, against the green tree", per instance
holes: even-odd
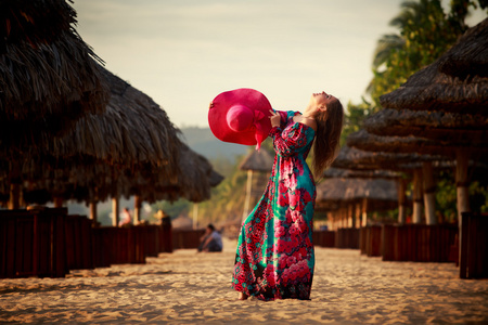
[[[407,82],[381,96],[386,108],[488,115],[488,18]]]

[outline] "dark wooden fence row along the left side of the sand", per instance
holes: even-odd
[[[69,270],[145,263],[172,251],[171,224],[93,227],[66,208],[0,211],[0,278],[63,277]]]

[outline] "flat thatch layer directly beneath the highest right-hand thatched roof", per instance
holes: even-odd
[[[387,108],[368,117],[363,126],[376,135],[415,135],[488,145],[488,116],[483,115]]]

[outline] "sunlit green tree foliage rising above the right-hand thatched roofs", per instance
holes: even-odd
[[[375,106],[380,96],[401,86],[407,78],[446,52],[467,26],[464,20],[474,1],[451,1],[446,14],[439,0],[402,2],[390,25],[399,35],[383,36],[373,60],[373,80],[368,90]]]

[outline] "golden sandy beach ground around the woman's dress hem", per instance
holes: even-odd
[[[239,301],[235,243],[221,253],[160,253],[146,264],[0,280],[1,324],[488,324],[488,281],[454,264],[383,262],[316,247],[311,300]]]

